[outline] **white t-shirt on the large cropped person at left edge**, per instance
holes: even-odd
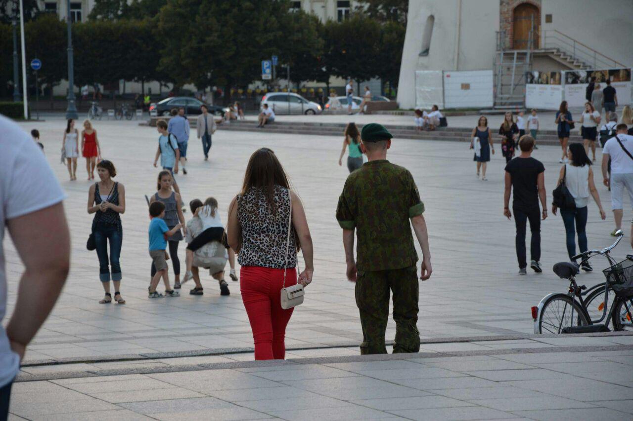
[[[6,265],[4,227],[6,222],[60,203],[65,198],[44,154],[27,133],[13,121],[0,116],[0,320],[6,313]],[[17,281],[15,277],[14,281]],[[28,294],[28,291],[25,293]],[[0,387],[20,370],[20,357],[9,346],[0,326]]]

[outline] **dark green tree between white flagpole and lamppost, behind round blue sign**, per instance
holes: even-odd
[[[27,63],[36,57],[42,61],[42,68],[37,71],[38,83],[41,87],[47,85],[53,108],[53,87],[68,74],[68,58],[65,54],[66,23],[56,15],[42,13],[34,21],[27,23],[24,32]]]

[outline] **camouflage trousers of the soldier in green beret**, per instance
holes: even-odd
[[[417,267],[389,271],[358,271],[356,305],[363,327],[361,355],[386,354],[385,329],[389,318],[389,292],[393,292],[396,322],[394,353],[420,351],[418,331]]]

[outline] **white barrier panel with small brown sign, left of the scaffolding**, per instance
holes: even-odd
[[[492,70],[444,71],[445,108],[490,108]]]

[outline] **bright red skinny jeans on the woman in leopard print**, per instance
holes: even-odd
[[[280,296],[284,282],[284,269],[242,266],[240,290],[251,322],[255,342],[255,360],[283,360],[285,357],[285,327],[292,310],[281,308]],[[289,268],[285,285],[297,283],[296,269]]]

